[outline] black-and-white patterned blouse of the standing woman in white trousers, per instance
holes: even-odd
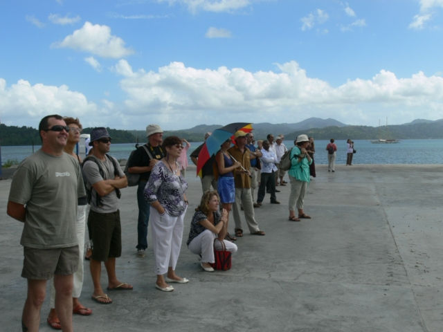
[[[150,179],[145,186],[147,203],[159,201],[170,216],[180,216],[187,207],[183,194],[188,183],[182,176],[172,173],[163,161],[159,161],[152,169]]]

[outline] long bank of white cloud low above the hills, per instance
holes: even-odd
[[[2,123],[35,127],[43,116],[60,113],[80,117],[84,127],[124,129],[141,129],[147,123],[186,129],[201,123],[297,122],[309,116],[375,126],[386,113],[390,124],[437,120],[443,114],[443,77],[421,71],[397,77],[381,70],[368,79],[331,86],[309,77],[295,61],[277,64],[275,71],[201,69],[172,62],[147,72],[120,59],[114,70],[122,75],[120,87],[127,95],[123,102],[111,100],[109,93],[90,102],[65,85],[20,80],[8,87],[0,78]]]

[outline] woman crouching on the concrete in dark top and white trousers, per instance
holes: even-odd
[[[195,214],[192,217],[189,238],[186,242],[191,252],[201,255],[200,265],[206,272],[214,271],[210,264],[215,262],[214,245],[217,250],[221,250],[220,241],[224,241],[227,251],[237,252],[235,243],[224,240],[228,212],[223,209],[220,214],[219,204],[219,194],[215,190],[204,193],[200,205],[195,209]],[[215,238],[220,241],[214,243]]]

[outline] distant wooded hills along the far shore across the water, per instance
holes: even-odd
[[[317,127],[315,127],[317,126]],[[165,131],[163,136],[175,135],[186,138],[190,142],[201,142],[206,131],[214,131],[221,127],[218,124],[199,124],[190,129],[177,131]],[[348,126],[334,119],[310,118],[302,122],[293,124],[253,124],[255,139],[265,139],[266,134],[273,133],[274,136],[282,133],[286,140],[293,140],[300,133],[314,136],[317,140],[374,140],[379,138],[389,139],[421,139],[421,138],[443,138],[443,119],[441,120],[414,120],[407,124],[368,127],[368,126]],[[146,142],[146,132],[144,130],[120,130],[107,128],[115,143]],[[90,133],[92,128],[83,129],[84,133]],[[0,124],[0,144],[1,145],[33,145],[40,144],[37,129],[32,127],[15,127]]]

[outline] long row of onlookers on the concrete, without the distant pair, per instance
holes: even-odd
[[[98,304],[113,302],[100,282],[102,263],[107,272],[108,293],[133,289],[131,284],[118,279],[116,273],[116,259],[122,252],[120,190],[127,187],[127,178],[116,158],[108,154],[111,137],[104,127],[91,131],[92,148],[84,160],[75,154],[81,131],[78,119],[44,117],[39,123],[42,148],[26,158],[12,178],[7,213],[24,222],[21,275],[27,279],[28,293],[22,314],[23,331],[38,331],[48,280],[53,288],[47,322],[53,329],[73,331],[73,314],[91,315],[91,308],[79,301],[86,224],[92,244],[91,299]],[[163,130],[156,124],[146,127],[146,136],[147,143],[127,160],[127,171],[140,175],[136,190],[136,255],[145,256],[150,222],[155,287],[171,292],[174,291],[171,284],[189,282],[176,273],[176,266],[188,209],[184,172],[190,144],[177,136],[163,139]],[[209,136],[207,133],[206,138]],[[240,130],[234,134],[235,144],[231,140],[222,142],[217,154],[204,165],[203,196],[190,219],[186,241],[189,250],[201,257],[204,271],[213,271],[214,248],[237,251],[234,241],[244,236],[242,210],[249,232],[265,235],[255,219],[254,208],[260,208],[266,193],[271,194],[271,203],[280,204],[275,187],[287,184],[285,171],[278,166],[287,151],[283,139],[280,135],[274,142],[269,134],[261,145],[257,142],[255,146],[253,132]],[[315,168],[314,172],[309,170],[314,165],[315,147],[306,135],[298,136],[294,143],[287,171],[291,184],[289,221],[300,221],[311,218],[305,214],[303,203],[310,174],[315,176]],[[190,154],[195,164],[201,148],[202,145]],[[233,235],[228,232],[231,214],[235,224]]]

